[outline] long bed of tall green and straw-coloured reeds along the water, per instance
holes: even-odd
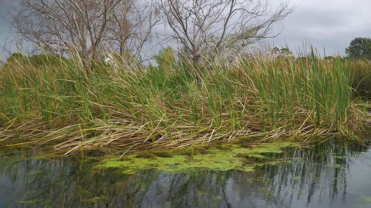
[[[357,140],[352,132],[369,119],[353,96],[350,60],[236,56],[201,67],[96,64],[88,73],[78,57],[53,60],[1,68],[1,146],[69,154],[337,135]]]

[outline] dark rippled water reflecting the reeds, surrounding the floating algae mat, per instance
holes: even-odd
[[[371,151],[353,143],[266,153],[255,171],[122,174],[93,168],[96,152],[83,160],[26,153],[0,149],[0,207],[371,207]],[[282,158],[295,159],[272,163]]]

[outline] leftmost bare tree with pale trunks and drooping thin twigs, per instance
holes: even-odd
[[[122,0],[20,0],[13,27],[27,41],[54,51],[78,49],[98,59],[109,14]]]

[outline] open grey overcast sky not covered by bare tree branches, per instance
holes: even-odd
[[[0,17],[11,8],[12,0],[0,0]],[[275,4],[278,0],[272,0]],[[345,47],[355,37],[371,37],[371,0],[290,0],[297,9],[282,21],[282,34],[270,39],[271,45],[279,47],[287,43],[295,51],[304,39],[311,41],[323,55],[345,55]],[[0,19],[0,44],[15,51],[9,38],[9,23]],[[159,49],[159,48],[158,48]],[[157,49],[157,50],[158,50]],[[0,60],[8,53],[0,49]]]

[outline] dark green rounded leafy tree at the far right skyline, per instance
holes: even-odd
[[[351,58],[371,58],[371,39],[357,37],[354,38],[349,47],[345,49],[348,57]]]

